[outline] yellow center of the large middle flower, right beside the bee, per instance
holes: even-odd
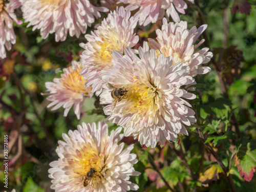
[[[135,80],[126,89],[127,104],[123,108],[123,114],[136,113],[136,115],[153,116],[159,110],[159,99],[162,97],[161,92],[153,83]]]

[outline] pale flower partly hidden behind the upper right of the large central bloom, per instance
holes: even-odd
[[[150,48],[156,50],[157,55],[164,54],[165,57],[173,56],[174,63],[182,62],[189,66],[189,75],[195,77],[197,74],[205,74],[210,71],[209,67],[199,65],[207,63],[212,57],[212,53],[208,52],[209,48],[203,48],[197,52],[195,50],[204,42],[202,39],[197,46],[196,40],[200,37],[207,25],[202,25],[198,29],[196,26],[187,29],[187,22],[168,23],[163,18],[162,30],[157,29],[157,41],[148,38]]]

